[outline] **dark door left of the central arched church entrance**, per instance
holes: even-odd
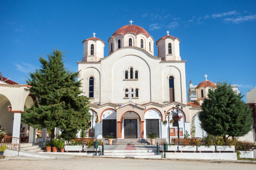
[[[108,138],[106,135],[113,135],[116,138],[116,119],[102,120],[102,137]]]

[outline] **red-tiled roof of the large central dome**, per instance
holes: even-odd
[[[136,25],[126,25],[123,26],[121,28],[119,28],[118,30],[116,30],[116,32],[112,35],[112,37],[114,38],[117,34],[122,34],[125,35],[127,33],[133,33],[135,35],[138,34],[145,34],[147,37],[149,37],[150,35],[147,33],[146,30],[144,30],[142,27],[140,26],[136,26]]]

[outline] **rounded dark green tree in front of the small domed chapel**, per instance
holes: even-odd
[[[252,129],[251,109],[242,100],[241,94],[236,94],[227,82],[217,83],[214,90],[209,89],[199,112],[201,127],[210,135],[239,137],[246,135]]]

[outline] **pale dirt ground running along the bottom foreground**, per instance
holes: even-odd
[[[255,164],[168,159],[80,157],[71,159],[4,160],[0,169],[255,169]]]

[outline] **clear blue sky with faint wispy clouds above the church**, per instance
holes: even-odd
[[[144,28],[156,41],[178,37],[186,62],[186,86],[208,80],[238,84],[243,95],[256,85],[256,1],[12,1],[0,0],[0,71],[26,84],[40,68],[39,55],[58,48],[65,64],[77,71],[82,41],[93,36],[105,42],[120,27]],[[246,101],[246,100],[245,100]]]

